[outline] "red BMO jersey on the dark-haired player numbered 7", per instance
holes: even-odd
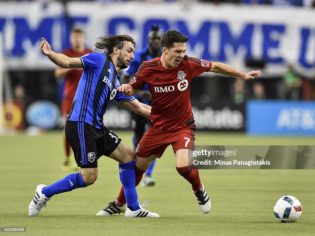
[[[168,70],[160,58],[143,62],[129,84],[140,89],[148,84],[152,98],[151,121],[160,130],[178,130],[193,117],[189,85],[193,77],[211,69],[212,63],[185,56],[177,68]]]

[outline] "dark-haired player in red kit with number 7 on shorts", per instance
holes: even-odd
[[[144,62],[129,84],[118,88],[126,96],[132,96],[147,83],[152,98],[151,120],[147,132],[135,151],[136,184],[153,160],[160,158],[166,147],[172,145],[176,156],[176,170],[192,184],[199,206],[204,213],[211,208],[210,198],[200,182],[198,169],[192,164],[196,126],[190,103],[189,84],[193,77],[205,71],[245,80],[261,77],[260,70],[248,73],[224,63],[205,61],[185,56],[188,37],[171,30],[161,38],[162,56]],[[123,188],[117,197],[117,206],[125,204]]]

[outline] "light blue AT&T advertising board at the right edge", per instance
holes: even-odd
[[[315,135],[315,102],[251,100],[246,117],[250,135]]]

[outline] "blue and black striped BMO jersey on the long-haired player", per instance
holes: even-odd
[[[134,100],[117,91],[119,75],[110,57],[103,53],[88,53],[81,59],[83,74],[72,102],[67,121],[81,121],[100,129],[103,115],[114,98],[119,103]]]

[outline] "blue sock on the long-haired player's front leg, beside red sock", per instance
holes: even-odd
[[[128,163],[119,163],[119,178],[123,184],[125,191],[125,198],[127,201],[128,208],[131,211],[137,211],[140,209],[138,202],[138,194],[135,187],[135,161]]]

